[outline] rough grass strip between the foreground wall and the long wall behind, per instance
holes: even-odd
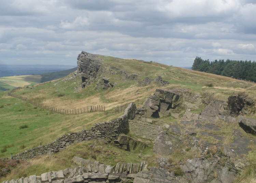
[[[125,151],[111,144],[101,145],[98,140],[89,140],[70,145],[66,150],[55,153],[51,157],[43,155],[29,160],[26,164],[20,164],[9,176],[0,178],[0,181],[28,177],[32,174],[40,176],[44,172],[74,168],[77,166],[72,161],[74,156],[113,166],[118,162],[139,163],[146,160],[143,158],[145,155],[152,155],[152,145],[143,150]]]

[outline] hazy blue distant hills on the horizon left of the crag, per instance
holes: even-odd
[[[0,77],[42,74],[74,68],[71,65],[6,65],[0,64]]]

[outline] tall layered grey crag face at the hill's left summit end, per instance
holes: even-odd
[[[98,55],[82,51],[77,56],[77,71],[82,77],[82,87],[94,82],[100,66]]]

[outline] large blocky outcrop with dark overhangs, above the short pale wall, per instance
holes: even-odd
[[[179,103],[177,101],[180,94],[172,90],[156,89],[156,92],[150,98],[147,98],[143,107],[146,109],[147,117],[161,117],[170,114],[172,109],[175,109]]]

